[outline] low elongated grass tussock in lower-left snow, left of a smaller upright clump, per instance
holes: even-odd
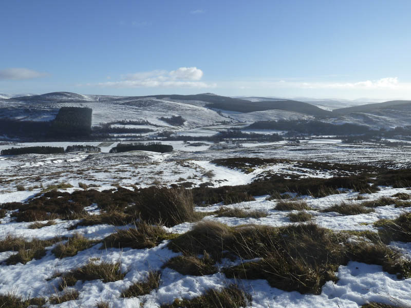
[[[65,273],[59,283],[60,290],[73,286],[79,280],[102,280],[103,282],[122,280],[125,274],[120,272],[120,263],[89,262],[86,265]]]

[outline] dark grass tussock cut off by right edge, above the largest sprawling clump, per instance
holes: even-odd
[[[379,233],[385,243],[411,242],[411,213],[401,214],[395,219],[380,219],[374,226],[381,228]]]

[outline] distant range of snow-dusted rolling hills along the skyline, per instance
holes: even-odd
[[[18,97],[0,94],[0,117],[46,121],[63,106],[85,106],[93,109],[93,125],[144,119],[156,125],[167,126],[158,119],[171,115],[181,115],[186,119],[185,128],[216,125],[227,121],[250,123],[271,119],[309,118],[325,122],[363,124],[373,128],[411,125],[411,101],[353,106],[359,102],[301,99],[304,101],[264,97],[231,98],[213,93],[138,97],[71,92],[25,94]],[[334,108],[338,106],[344,108]]]

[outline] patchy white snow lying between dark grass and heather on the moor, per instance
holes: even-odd
[[[193,131],[194,132],[194,131]],[[165,142],[167,143],[167,142]],[[53,143],[54,146],[67,146],[73,143]],[[100,145],[99,142],[88,143]],[[42,188],[16,191],[17,185],[29,188],[34,185],[46,187],[49,184],[69,183],[73,187],[67,191],[81,189],[79,182],[95,184],[96,189],[123,187],[146,187],[153,184],[170,185],[173,183],[191,182],[192,187],[209,182],[218,187],[221,185],[240,185],[252,182],[256,177],[265,174],[281,174],[302,178],[327,178],[335,176],[332,170],[310,169],[301,167],[298,161],[318,161],[331,163],[365,163],[382,167],[409,167],[411,160],[408,147],[394,148],[386,146],[357,146],[341,144],[339,140],[307,140],[301,144],[292,143],[249,143],[242,148],[211,150],[210,145],[192,147],[182,142],[170,142],[175,150],[171,153],[154,153],[133,151],[110,154],[108,150],[116,143],[105,144],[103,153],[74,152],[61,155],[22,155],[0,156],[0,203],[23,202],[40,192]],[[20,144],[27,146],[32,144]],[[1,146],[4,148],[7,146]],[[265,164],[253,168],[246,174],[240,169],[228,168],[211,163],[214,159],[229,157],[260,157],[286,159],[279,163]],[[134,186],[135,185],[135,186]],[[389,197],[398,192],[409,193],[407,188],[380,187],[374,194],[364,194],[363,198],[375,200]],[[343,216],[338,213],[322,213],[321,209],[342,201],[360,203],[353,200],[358,192],[349,191],[322,198],[305,196],[308,210],[313,220],[322,227],[333,230],[357,230],[377,232],[372,225],[379,219],[393,219],[401,213],[408,213],[411,207],[397,208],[386,205],[375,208],[369,214]],[[291,224],[287,217],[292,211],[274,209],[275,201],[268,201],[267,196],[254,196],[255,201],[241,202],[228,207],[246,211],[262,209],[267,211],[264,218],[216,217],[208,215],[203,220],[214,220],[230,226],[242,224],[265,224],[284,226]],[[221,204],[208,207],[197,207],[197,211],[210,212],[217,210]],[[95,213],[96,207],[89,207]],[[108,224],[81,226],[75,230],[67,227],[76,221],[56,220],[57,224],[40,229],[29,229],[31,223],[15,222],[10,217],[0,219],[0,240],[7,235],[23,236],[27,239],[50,239],[55,236],[73,236],[84,234],[86,238],[101,240],[114,233],[119,227]],[[182,223],[171,228],[171,232],[184,233],[194,223]],[[121,228],[127,228],[123,226]],[[391,242],[391,246],[401,249],[406,258],[411,258],[409,243]],[[184,276],[170,268],[161,269],[164,262],[174,256],[166,247],[166,241],[153,248],[145,249],[103,249],[100,243],[78,253],[73,257],[57,259],[51,254],[53,246],[47,248],[47,254],[40,260],[26,264],[0,264],[0,294],[13,292],[24,297],[49,297],[56,294],[57,280],[51,279],[55,272],[64,272],[84,265],[90,259],[101,261],[119,261],[121,270],[126,273],[123,280],[103,283],[101,280],[78,282],[74,287],[80,292],[78,300],[64,302],[58,307],[95,307],[100,300],[110,302],[110,307],[159,307],[171,303],[175,298],[193,298],[209,288],[226,286],[233,280],[221,273],[206,276]],[[13,252],[0,253],[0,262],[6,260]],[[161,270],[162,283],[158,290],[148,295],[132,298],[121,298],[120,293],[129,285],[143,279],[148,271]],[[338,282],[328,281],[320,295],[285,292],[271,287],[266,280],[240,280],[239,283],[252,295],[253,307],[359,307],[368,301],[391,304],[411,305],[411,279],[398,279],[382,271],[379,265],[367,265],[349,262],[338,268]]]

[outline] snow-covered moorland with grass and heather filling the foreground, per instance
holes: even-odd
[[[170,144],[0,157],[0,303],[411,305],[407,147]]]

